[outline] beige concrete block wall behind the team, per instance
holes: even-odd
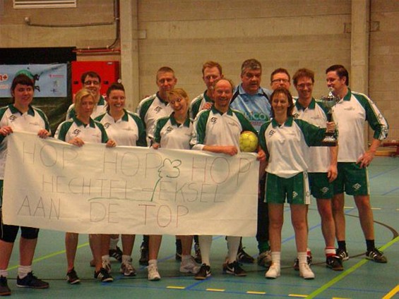
[[[353,56],[351,59],[356,54],[351,41],[352,7],[365,1],[120,0],[121,16],[129,16],[129,9],[134,18],[122,35],[124,52],[78,59],[121,60],[122,80],[134,86],[130,109],[145,94],[155,92],[160,66],[174,68],[178,85],[195,97],[204,90],[202,63],[210,59],[219,61],[225,76],[235,83],[239,83],[242,61],[258,59],[263,63],[264,87],[269,86],[275,68],[287,68],[292,74],[297,68],[311,68],[316,72],[318,97],[327,92],[324,71],[328,66],[341,63],[349,71],[355,66]],[[32,23],[61,24],[112,22],[113,3],[79,0],[78,8],[73,9],[14,10],[11,0],[0,0],[0,47],[105,47],[114,40],[115,25],[40,28],[25,25],[23,19],[30,16]],[[370,10],[369,94],[388,118],[390,137],[399,139],[399,112],[393,102],[399,90],[395,84],[399,78],[399,1],[371,0]],[[135,39],[129,47],[124,46],[130,42],[126,37]],[[131,61],[138,61],[138,66]],[[137,67],[138,71],[126,71]],[[354,84],[356,80],[351,78]],[[292,92],[295,94],[293,87]]]

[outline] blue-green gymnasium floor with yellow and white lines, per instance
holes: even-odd
[[[196,281],[179,273],[174,260],[174,237],[165,236],[158,263],[162,279],[148,281],[147,271],[138,266],[141,236],[133,249],[133,265],[138,275],[124,278],[119,264],[112,262],[113,283],[93,279],[89,267],[88,237],[81,236],[76,271],[82,282],[66,283],[64,233],[40,232],[33,264],[34,274],[50,283],[47,290],[32,290],[16,286],[18,245],[11,257],[8,285],[12,298],[399,298],[399,157],[376,157],[369,168],[371,202],[374,209],[376,245],[388,257],[388,264],[376,264],[364,259],[365,243],[359,226],[357,209],[351,197],[345,203],[347,248],[350,260],[344,271],[331,271],[324,266],[323,237],[315,202],[309,208],[309,245],[316,279],[305,281],[292,269],[295,254],[294,236],[290,224],[290,209],[285,209],[282,231],[282,273],[278,279],[264,278],[264,269],[257,264],[245,264],[246,277],[222,274],[222,262],[227,252],[225,238],[215,236],[212,246],[212,274],[206,281]],[[244,238],[246,252],[256,257],[255,238]],[[160,297],[159,297],[160,296]]]

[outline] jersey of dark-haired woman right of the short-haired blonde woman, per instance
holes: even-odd
[[[125,114],[117,121],[109,115],[102,114],[95,118],[107,131],[108,138],[115,140],[117,145],[129,145],[132,147],[146,147],[145,128],[141,118],[130,111],[124,110]]]

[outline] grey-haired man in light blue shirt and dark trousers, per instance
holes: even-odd
[[[271,106],[269,103],[270,90],[261,87],[262,65],[256,59],[247,59],[241,66],[242,83],[234,91],[232,109],[242,111],[251,125],[259,131],[262,124],[270,118]],[[262,168],[263,167],[263,168]],[[261,164],[264,170],[266,164]],[[265,173],[262,171],[261,173]],[[270,267],[271,255],[268,233],[268,206],[264,202],[264,176],[259,182],[258,196],[258,229],[256,240],[258,240],[258,264],[263,267]],[[253,263],[254,258],[248,255],[240,243],[237,255],[238,262]]]

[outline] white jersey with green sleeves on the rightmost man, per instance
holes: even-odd
[[[374,130],[375,139],[383,140],[388,135],[388,122],[365,94],[348,89],[333,112],[339,132],[338,162],[355,162],[364,154],[365,121]]]

